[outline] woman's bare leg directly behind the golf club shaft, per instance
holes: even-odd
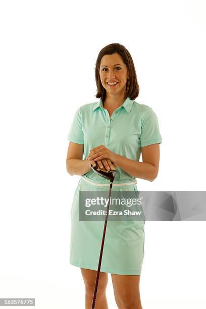
[[[91,309],[97,271],[81,268],[81,273],[85,284],[85,308]],[[108,273],[100,272],[97,294],[96,294],[95,309],[108,309],[108,303],[106,298],[107,284],[108,284]]]

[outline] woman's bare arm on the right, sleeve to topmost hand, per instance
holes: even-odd
[[[153,181],[158,176],[160,162],[160,144],[152,144],[141,148],[142,161],[127,159],[117,153],[112,152],[104,145],[97,146],[90,150],[86,160],[94,159],[95,161],[108,158],[114,162],[126,173],[135,178],[141,178]]]

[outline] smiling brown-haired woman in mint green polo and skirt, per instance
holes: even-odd
[[[105,222],[79,220],[79,191],[109,192],[109,181],[96,174],[90,164],[110,169],[113,163],[117,172],[112,191],[138,192],[136,178],[153,181],[158,175],[162,142],[155,112],[134,101],[139,86],[133,60],[123,45],[113,43],[100,50],[95,79],[95,96],[100,99],[76,111],[68,134],[67,153],[67,172],[81,175],[71,209],[70,263],[81,268],[86,309],[92,304]],[[139,162],[140,153],[143,162]],[[139,279],[144,256],[144,222],[145,218],[108,221],[96,309],[108,308],[108,273],[112,276],[118,308],[142,308]]]

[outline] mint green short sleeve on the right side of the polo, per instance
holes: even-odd
[[[162,143],[162,137],[157,115],[149,108],[141,120],[140,144],[143,147],[156,143]]]

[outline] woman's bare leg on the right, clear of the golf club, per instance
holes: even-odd
[[[115,300],[119,309],[142,309],[139,294],[140,275],[111,274]]]

